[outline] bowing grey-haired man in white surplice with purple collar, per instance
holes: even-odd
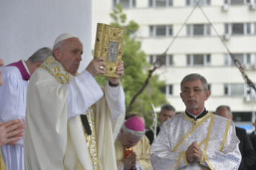
[[[2,68],[3,84],[0,87],[0,121],[21,119],[25,123],[26,88],[30,75],[51,55],[51,49],[44,47],[35,51],[27,61],[20,60]],[[1,148],[7,170],[23,170],[23,137],[17,145]]]

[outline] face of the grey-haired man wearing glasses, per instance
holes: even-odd
[[[193,113],[194,110],[202,111],[204,109],[210,91],[205,91],[201,79],[197,79],[183,83],[180,95],[186,109]]]

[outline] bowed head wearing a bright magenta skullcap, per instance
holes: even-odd
[[[125,148],[135,146],[144,136],[144,123],[136,117],[132,117],[120,129],[120,142]]]

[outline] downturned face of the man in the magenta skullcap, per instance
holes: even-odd
[[[120,142],[125,148],[134,147],[139,141],[140,138],[133,136],[132,133],[125,135],[123,129],[120,130]]]

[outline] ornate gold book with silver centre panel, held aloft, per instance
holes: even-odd
[[[116,67],[122,59],[124,28],[98,23],[95,38],[94,58],[103,57],[106,63],[107,77],[116,77]]]

